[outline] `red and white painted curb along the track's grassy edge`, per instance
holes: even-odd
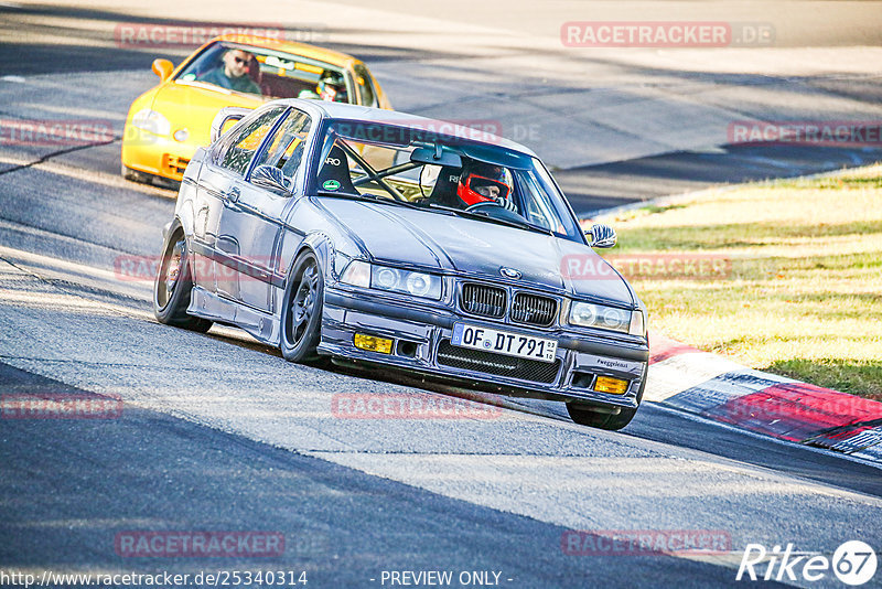
[[[882,464],[882,403],[746,368],[658,333],[644,400]]]

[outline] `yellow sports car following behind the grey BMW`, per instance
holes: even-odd
[[[122,136],[122,175],[139,182],[180,182],[196,148],[211,143],[212,120],[225,106],[316,98],[391,109],[364,63],[304,43],[222,35],[176,69],[154,61],[153,73],[160,83],[131,104]]]

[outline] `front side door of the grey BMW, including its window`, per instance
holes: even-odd
[[[218,248],[233,264],[217,267],[218,291],[256,310],[271,311],[273,277],[278,274],[281,219],[292,206],[291,186],[300,170],[305,140],[311,127],[309,115],[292,108],[272,130],[257,152],[249,170],[234,179],[220,213]],[[280,172],[284,189],[256,173],[269,167]]]

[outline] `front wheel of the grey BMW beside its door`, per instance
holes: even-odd
[[[311,362],[319,358],[316,347],[322,335],[322,303],[324,277],[312,251],[294,260],[282,299],[279,347],[289,362]]]

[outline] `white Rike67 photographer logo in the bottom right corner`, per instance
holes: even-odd
[[[814,582],[829,579],[832,574],[846,585],[860,586],[873,578],[878,564],[875,550],[861,540],[841,544],[832,558],[818,553],[794,550],[789,543],[783,550],[781,546],[767,550],[762,544],[749,544],[741,557],[735,580]]]

